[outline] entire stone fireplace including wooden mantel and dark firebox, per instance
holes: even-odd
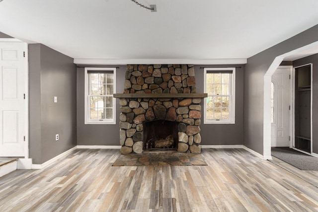
[[[201,106],[193,65],[127,65],[120,98],[120,151],[200,153]]]

